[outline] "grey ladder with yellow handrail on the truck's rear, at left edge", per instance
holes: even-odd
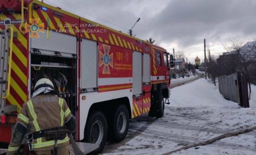
[[[17,106],[15,105],[6,105],[6,99],[10,95],[13,37],[14,32],[12,27],[6,26],[5,31],[0,31],[0,116],[4,113],[17,110]]]

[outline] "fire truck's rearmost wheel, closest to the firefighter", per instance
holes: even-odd
[[[90,154],[97,154],[102,151],[107,139],[107,121],[101,111],[90,114],[84,133],[84,141],[89,143],[99,143],[99,148]]]

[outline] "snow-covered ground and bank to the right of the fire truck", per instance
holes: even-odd
[[[256,87],[252,87],[250,108],[228,101],[212,83],[199,79],[171,89],[165,114],[138,136],[104,154],[163,154],[182,146],[202,142],[227,132],[256,126]],[[130,121],[128,132],[147,124],[147,114]],[[218,140],[212,144],[173,154],[256,154],[256,131]]]

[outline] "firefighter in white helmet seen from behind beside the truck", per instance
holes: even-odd
[[[7,154],[15,154],[27,136],[31,154],[70,154],[68,132],[75,132],[76,119],[64,99],[53,94],[49,79],[36,82],[32,98],[18,115]]]

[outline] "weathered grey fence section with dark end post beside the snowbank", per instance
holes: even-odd
[[[247,76],[239,72],[218,77],[218,90],[223,97],[243,107],[249,107],[247,84]]]

